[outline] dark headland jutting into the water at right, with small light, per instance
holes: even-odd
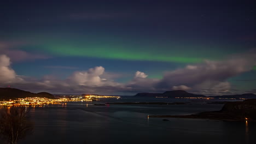
[[[219,119],[223,121],[256,121],[256,99],[226,103],[220,111],[200,112],[185,116],[149,116],[170,118]]]

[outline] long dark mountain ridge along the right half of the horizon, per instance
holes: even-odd
[[[188,93],[186,91],[177,90],[177,91],[166,91],[164,93],[137,93],[135,97],[168,97],[168,98],[176,98],[176,97],[186,97],[186,98],[207,98],[206,95],[202,94],[193,94]],[[235,95],[221,95],[221,96],[211,96],[208,98],[244,98],[244,99],[256,99],[256,94],[253,93],[245,93],[245,94],[235,94]]]

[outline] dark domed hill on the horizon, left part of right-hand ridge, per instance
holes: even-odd
[[[206,97],[205,95],[200,94],[193,94],[188,93],[186,91],[167,91],[164,93],[138,93],[135,97],[168,97],[168,98],[175,98],[175,97]]]

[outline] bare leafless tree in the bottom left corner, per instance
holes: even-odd
[[[28,112],[27,107],[8,107],[1,112],[0,134],[8,144],[16,144],[32,132],[33,123],[28,119]]]

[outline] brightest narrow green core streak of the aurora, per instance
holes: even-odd
[[[73,46],[49,46],[48,52],[60,56],[80,56],[80,57],[97,57],[109,59],[123,59],[131,61],[160,61],[160,62],[181,62],[181,63],[197,63],[201,62],[201,58],[179,57],[179,56],[163,56],[158,53],[149,52],[131,52],[115,49],[101,49],[94,47],[90,50],[83,48],[74,48]]]

